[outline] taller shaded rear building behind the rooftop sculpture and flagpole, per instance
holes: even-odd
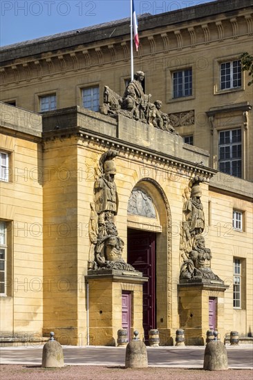
[[[186,142],[210,152],[211,167],[252,180],[252,88],[239,59],[253,53],[252,1],[144,14],[138,24],[134,61],[145,73],[145,93],[162,101]],[[104,86],[124,93],[129,38],[129,19],[123,19],[3,46],[0,100],[35,112],[74,104],[96,111]],[[220,137],[232,140],[234,130],[241,155],[233,164],[223,158],[227,144]]]

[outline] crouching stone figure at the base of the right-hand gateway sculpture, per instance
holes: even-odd
[[[210,267],[212,254],[209,248],[205,247],[205,238],[203,235],[197,235],[194,238],[194,244],[189,259],[182,264],[180,269],[181,279],[205,278],[209,280],[221,281]]]

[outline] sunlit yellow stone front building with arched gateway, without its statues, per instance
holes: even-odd
[[[185,328],[189,343],[203,344],[212,299],[216,303],[214,327],[221,336],[235,329],[249,334],[250,182],[216,173],[207,166],[208,153],[184,144],[182,137],[124,116],[115,120],[74,106],[43,115],[43,131],[41,115],[1,104],[1,117],[1,151],[8,153],[10,164],[9,177],[1,181],[1,225],[6,227],[7,239],[6,290],[1,296],[3,337],[26,334],[32,339],[53,330],[65,343],[115,344],[122,327],[120,294],[124,293],[135,293],[130,301],[131,332],[138,328],[143,334],[142,279],[128,276],[126,268],[121,277],[118,272],[109,278],[107,272],[87,276],[95,258],[89,227],[94,184],[100,158],[110,149],[117,151],[115,225],[124,242],[123,260],[136,269],[143,267],[142,243],[147,237],[153,241],[151,261],[144,263],[153,271],[146,274],[153,287],[147,290],[153,300],[149,328],[158,327],[165,344],[174,343],[178,327]],[[196,164],[200,160],[203,164]],[[180,284],[180,268],[185,261],[185,194],[196,176],[203,179],[205,245],[212,251],[212,272],[223,283],[198,283],[193,288],[192,281]],[[138,203],[133,202],[135,192]],[[242,230],[232,227],[234,209],[243,210]],[[142,257],[140,263],[132,251]],[[238,307],[233,306],[235,263],[241,268]]]

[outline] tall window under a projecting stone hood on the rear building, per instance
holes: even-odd
[[[219,132],[218,162],[219,170],[241,178],[241,129]]]

